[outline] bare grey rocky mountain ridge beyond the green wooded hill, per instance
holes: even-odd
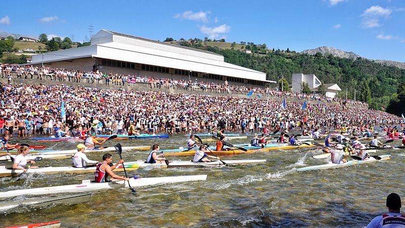
[[[304,50],[301,52],[301,54],[309,54],[309,55],[315,55],[316,53],[320,53],[323,56],[332,54],[333,56],[340,57],[340,58],[347,58],[347,59],[357,59],[358,57],[361,57],[353,52],[345,52],[339,49],[331,48],[331,47],[318,47],[315,49],[308,49]],[[363,57],[361,57],[363,58]],[[396,62],[396,61],[390,61],[390,60],[373,60],[376,63],[380,63],[383,65],[387,66],[394,66],[398,68],[405,69],[405,63],[402,62]]]

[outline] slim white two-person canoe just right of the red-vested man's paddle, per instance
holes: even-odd
[[[256,164],[266,162],[266,160],[222,160],[226,164],[229,165],[246,165],[246,164]],[[149,164],[145,163],[145,161],[137,161],[135,164],[139,165],[140,167],[159,167],[159,168],[170,168],[170,167],[193,167],[193,166],[221,166],[224,165],[219,160],[211,161],[211,162],[192,162],[192,161],[170,161],[169,165],[166,163],[154,163]]]

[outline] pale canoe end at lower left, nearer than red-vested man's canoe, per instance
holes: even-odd
[[[73,196],[47,197],[41,199],[24,199],[23,201],[9,201],[0,203],[0,212],[8,212],[18,207],[28,207],[29,209],[38,209],[55,204],[75,205],[87,203],[90,201],[92,194],[80,194]]]

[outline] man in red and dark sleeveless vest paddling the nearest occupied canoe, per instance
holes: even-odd
[[[109,182],[110,180],[107,179],[108,175],[111,176],[113,179],[123,179],[129,181],[130,178],[124,176],[118,176],[112,170],[114,170],[119,164],[123,164],[124,160],[119,160],[118,163],[115,165],[110,166],[112,162],[112,155],[106,153],[103,155],[103,162],[97,164],[96,173],[94,174],[94,182],[96,183],[103,183]]]

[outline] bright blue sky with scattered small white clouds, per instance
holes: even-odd
[[[22,3],[21,3],[22,4]],[[225,38],[301,52],[328,46],[405,62],[404,0],[6,1],[0,30],[83,42],[100,29],[163,41]]]

